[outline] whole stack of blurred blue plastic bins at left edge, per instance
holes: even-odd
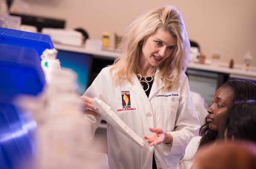
[[[15,98],[43,91],[40,56],[46,48],[54,48],[48,35],[0,28],[0,169],[34,168],[29,163],[35,157],[37,124]]]

